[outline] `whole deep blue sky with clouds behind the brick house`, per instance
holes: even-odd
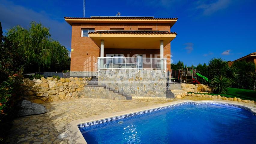
[[[171,32],[174,62],[199,64],[213,57],[236,60],[256,52],[255,0],[86,0],[86,17],[155,16],[178,17]],[[82,17],[83,0],[0,0],[4,32],[12,26],[28,28],[41,22],[52,38],[71,49],[71,26],[64,16]]]

